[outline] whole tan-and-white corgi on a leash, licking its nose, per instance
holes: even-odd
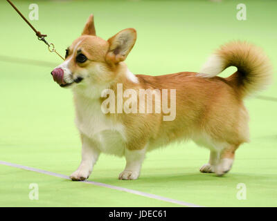
[[[124,61],[135,42],[134,28],[121,30],[107,41],[96,36],[90,15],[82,35],[66,49],[64,62],[51,72],[57,84],[73,91],[82,161],[71,180],[86,180],[100,153],[124,156],[126,166],[119,179],[136,180],[146,152],[188,139],[211,151],[202,173],[221,176],[230,171],[235,151],[249,142],[249,115],[243,100],[271,81],[267,56],[256,46],[234,41],[216,50],[199,73],[134,75]],[[216,76],[229,66],[238,71],[226,78]],[[118,99],[118,85],[132,91],[132,96],[124,93]],[[161,108],[139,112],[145,108],[141,101],[135,105],[141,90],[150,90],[153,97],[165,90],[175,92],[162,101],[152,100],[155,107],[174,106],[172,119],[165,119],[170,113]],[[131,111],[118,108],[120,102]],[[104,103],[109,103],[108,111]]]

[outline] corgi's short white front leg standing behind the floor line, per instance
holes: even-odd
[[[125,149],[126,166],[124,171],[119,174],[119,180],[136,180],[139,177],[145,152],[146,148],[135,151]]]

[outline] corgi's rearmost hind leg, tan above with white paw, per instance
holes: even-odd
[[[216,175],[222,176],[231,170],[233,160],[235,158],[235,150],[238,148],[238,146],[239,145],[233,144],[221,151],[220,160],[217,166],[215,166]]]

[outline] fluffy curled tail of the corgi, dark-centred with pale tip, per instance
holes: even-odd
[[[246,97],[267,86],[272,77],[270,61],[262,50],[245,41],[233,41],[218,49],[204,64],[199,75],[214,77],[229,66],[238,71],[227,78]]]

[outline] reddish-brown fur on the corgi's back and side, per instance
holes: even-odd
[[[163,145],[193,137],[195,133],[207,133],[218,142],[233,145],[248,141],[247,125],[244,125],[248,119],[247,111],[233,81],[221,77],[202,78],[196,74],[176,73],[157,77],[136,75],[139,85],[127,80],[116,81],[116,84],[123,83],[125,89],[136,88],[137,91],[139,88],[177,91],[174,121],[163,121],[163,113],[113,114],[116,120],[128,128],[129,148],[143,148],[141,140],[150,140],[150,146]],[[111,88],[116,91],[116,85],[111,85]],[[136,145],[136,141],[140,145]]]

